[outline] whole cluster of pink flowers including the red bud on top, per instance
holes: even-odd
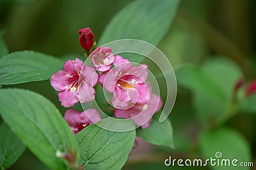
[[[81,29],[79,35],[81,46],[90,52],[94,41],[91,29]],[[93,66],[83,65],[79,59],[67,60],[63,70],[52,74],[51,85],[58,91],[61,105],[68,108],[78,102],[93,101],[94,86],[99,82],[113,94],[111,104],[115,108],[115,117],[132,118],[137,126],[147,128],[152,115],[163,105],[161,98],[152,94],[150,82],[147,82],[148,66],[133,66],[128,59],[114,55],[109,47],[97,47],[89,57]],[[94,108],[83,112],[68,109],[64,118],[76,134],[87,125],[98,122],[100,114]]]

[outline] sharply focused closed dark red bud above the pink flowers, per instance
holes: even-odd
[[[92,33],[92,30],[89,27],[80,29],[78,34],[80,35],[80,45],[84,50],[89,51],[92,48],[94,41],[94,34]]]

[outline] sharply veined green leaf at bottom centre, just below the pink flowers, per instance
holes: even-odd
[[[98,124],[112,127],[118,122],[111,122],[110,118],[105,118]],[[134,126],[132,120],[131,124]],[[96,124],[84,128],[76,135],[81,153],[81,164],[86,170],[121,169],[132,149],[135,136],[135,130],[112,132]]]

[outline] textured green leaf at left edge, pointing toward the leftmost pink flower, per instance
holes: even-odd
[[[50,55],[33,51],[10,53],[0,62],[0,84],[10,85],[51,78],[63,63]]]

